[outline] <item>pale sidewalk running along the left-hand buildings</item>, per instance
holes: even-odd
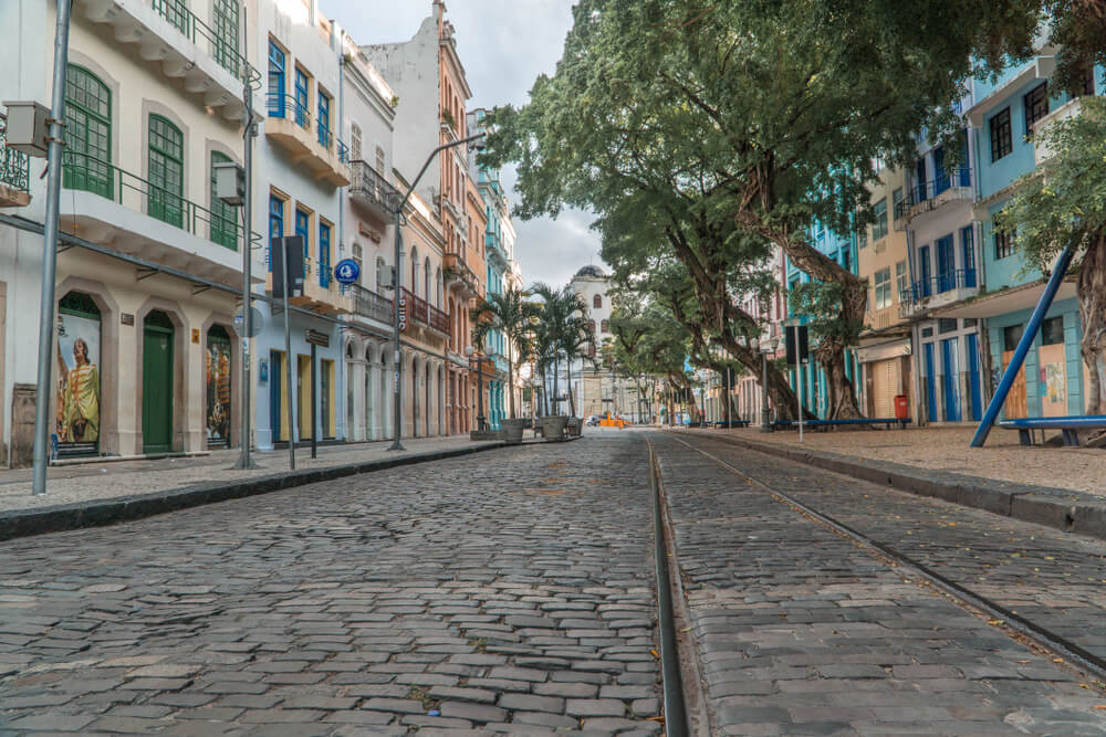
[[[388,451],[392,441],[320,446],[312,460],[307,448],[295,449],[296,471],[326,468],[400,459],[408,455],[460,451],[487,446],[468,435],[404,439],[404,451]],[[233,470],[239,451],[213,451],[209,455],[159,459],[154,461],[104,461],[80,465],[53,466],[46,472],[46,495],[31,494],[31,470],[0,471],[0,512],[41,509],[60,504],[106,501],[135,494],[167,492],[196,484],[260,478],[289,471],[288,449],[254,452],[261,466],[255,471]]]

